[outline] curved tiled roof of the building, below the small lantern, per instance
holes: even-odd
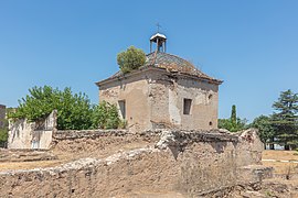
[[[140,67],[140,69],[146,68],[146,67],[157,67],[157,68],[163,68],[170,73],[185,74],[185,75],[191,75],[194,77],[212,80],[219,84],[222,82],[219,79],[215,79],[205,75],[204,73],[199,70],[193,64],[191,64],[190,62],[179,56],[168,54],[168,53],[162,53],[162,52],[153,52],[153,53],[147,54],[146,56],[147,56],[146,63],[143,66]],[[120,77],[123,75],[124,74],[119,70],[115,75],[109,77],[108,79]]]

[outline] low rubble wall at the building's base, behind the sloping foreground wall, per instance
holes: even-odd
[[[120,150],[128,144],[155,144],[160,139],[161,131],[132,133],[128,130],[65,130],[53,135],[51,147],[70,153],[107,153],[109,150]],[[107,151],[107,152],[106,152]]]

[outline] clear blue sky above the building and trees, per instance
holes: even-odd
[[[72,87],[98,102],[95,81],[118,70],[130,45],[149,52],[156,23],[167,52],[191,61],[252,121],[281,90],[298,91],[297,0],[0,0],[0,103],[17,107],[33,86]]]

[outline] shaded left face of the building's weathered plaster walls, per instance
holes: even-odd
[[[99,101],[103,100],[118,108],[118,101],[125,100],[126,120],[130,130],[143,131],[151,128],[146,73],[100,86]]]

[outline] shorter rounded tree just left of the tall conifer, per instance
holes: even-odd
[[[264,144],[274,142],[275,130],[272,125],[270,117],[262,114],[255,118],[249,127],[258,130],[259,139]],[[274,150],[274,145],[272,144],[270,146],[272,146],[270,148]]]

